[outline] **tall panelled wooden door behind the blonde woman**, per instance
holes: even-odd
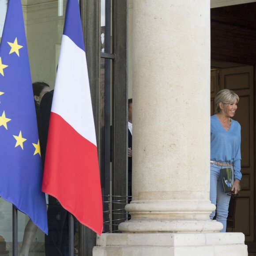
[[[253,67],[241,66],[220,70],[220,90],[235,91],[240,100],[233,118],[241,124],[241,180],[242,191],[237,198],[235,232],[245,234],[245,241],[254,241],[254,116]],[[231,230],[227,230],[231,231]]]

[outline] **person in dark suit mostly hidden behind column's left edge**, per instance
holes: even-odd
[[[132,196],[132,98],[128,99],[128,196]]]

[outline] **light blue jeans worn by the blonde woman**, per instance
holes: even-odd
[[[223,192],[221,180],[220,180],[220,169],[227,168],[216,166],[211,164],[211,178],[210,178],[210,200],[211,203],[216,205],[216,220],[221,222],[223,229],[220,232],[226,232],[227,217],[229,211],[230,196]],[[232,167],[233,168],[233,167]],[[215,211],[212,211],[210,218],[213,219]]]

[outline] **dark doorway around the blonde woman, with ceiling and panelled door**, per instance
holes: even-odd
[[[211,100],[218,90],[224,88],[234,90],[240,97],[240,109],[235,119],[242,127],[243,177],[233,231],[245,234],[248,252],[256,252],[255,10],[256,3],[211,9]]]

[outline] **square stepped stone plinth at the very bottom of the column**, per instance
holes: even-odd
[[[247,256],[243,233],[104,233],[93,256]]]

